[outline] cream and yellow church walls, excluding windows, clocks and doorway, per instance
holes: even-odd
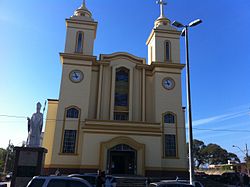
[[[107,147],[119,141],[130,142],[138,151],[138,174],[148,170],[186,170],[185,120],[182,110],[179,32],[170,25],[155,25],[147,41],[148,64],[144,58],[125,52],[93,56],[97,23],[68,19],[64,53],[61,53],[62,79],[59,101],[49,101],[43,146],[48,149],[45,167],[106,169]],[[76,34],[84,32],[84,50],[76,54]],[[164,45],[171,43],[171,61],[166,62]],[[129,69],[129,121],[113,121],[115,73]],[[84,79],[73,83],[72,70]],[[175,81],[172,90],[162,81]],[[80,109],[76,120],[65,118],[70,106]],[[163,114],[176,115],[176,124],[163,124]],[[56,119],[56,120],[50,120]],[[91,121],[92,120],[92,121]],[[64,130],[77,130],[76,152],[63,154]],[[176,135],[177,157],[163,155],[164,135]],[[106,148],[105,148],[106,147]],[[106,156],[105,156],[106,155]],[[104,159],[104,160],[103,160]]]

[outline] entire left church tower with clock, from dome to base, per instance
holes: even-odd
[[[93,56],[97,22],[86,8],[85,1],[66,19],[65,50],[60,53],[62,77],[60,95],[57,104],[55,132],[52,155],[69,154],[74,162],[81,159],[82,134],[81,121],[88,118],[91,98],[92,65],[96,62]],[[92,94],[93,95],[93,94]],[[68,149],[65,141],[72,138],[74,144]],[[60,146],[58,146],[60,145]],[[51,157],[57,162],[59,157]],[[63,161],[65,163],[65,160]]]

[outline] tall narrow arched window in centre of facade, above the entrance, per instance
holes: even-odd
[[[122,67],[116,70],[115,78],[115,120],[128,120],[129,70]]]

